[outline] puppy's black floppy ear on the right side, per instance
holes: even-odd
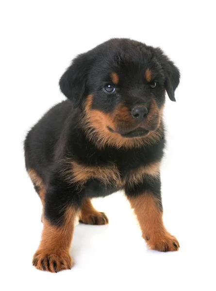
[[[180,81],[180,71],[174,65],[172,61],[164,54],[162,49],[156,49],[157,57],[160,65],[162,66],[165,73],[165,88],[168,94],[168,97],[172,101],[176,101],[175,99],[175,90],[179,85]]]

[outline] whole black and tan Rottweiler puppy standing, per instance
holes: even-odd
[[[130,39],[100,44],[67,68],[59,84],[68,99],[38,121],[24,145],[26,169],[43,204],[37,269],[70,269],[75,218],[107,224],[91,198],[118,190],[150,249],[179,249],[163,224],[160,180],[165,94],[175,101],[179,79],[161,49]]]

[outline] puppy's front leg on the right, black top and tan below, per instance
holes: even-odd
[[[179,242],[166,230],[162,219],[160,177],[147,175],[139,184],[126,185],[125,193],[149,248],[161,252],[178,251]]]

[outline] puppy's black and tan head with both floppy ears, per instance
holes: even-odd
[[[60,88],[101,139],[139,139],[158,129],[165,91],[175,101],[178,68],[159,48],[111,39],[79,55]]]

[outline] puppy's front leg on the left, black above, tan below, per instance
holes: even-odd
[[[37,269],[57,273],[71,268],[69,249],[81,199],[81,194],[77,195],[59,178],[50,181],[45,193],[41,242],[33,256]]]

